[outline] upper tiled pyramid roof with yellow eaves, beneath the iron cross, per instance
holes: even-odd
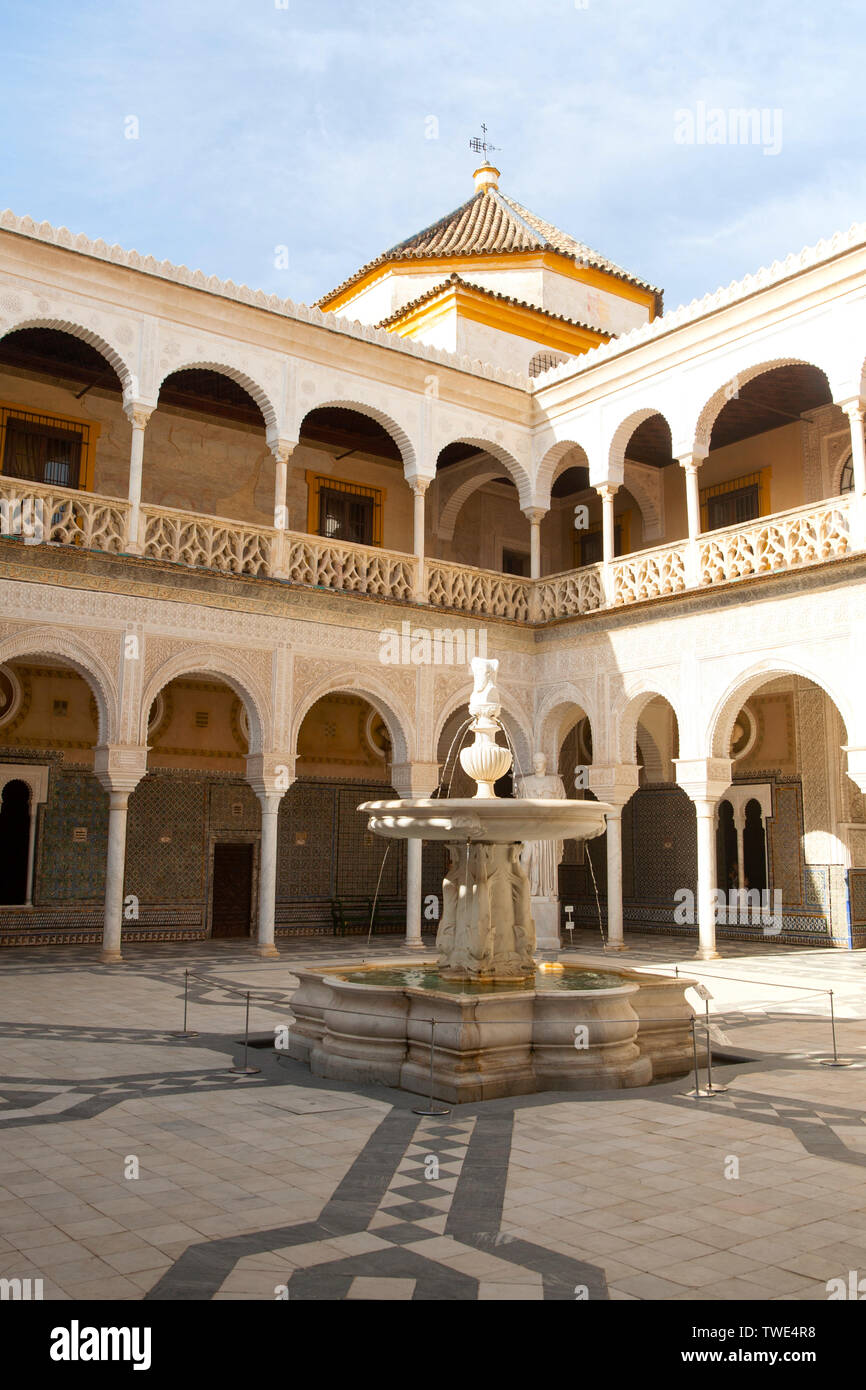
[[[617,279],[651,291],[656,296],[656,313],[662,311],[660,289],[623,270],[621,265],[616,265],[606,256],[594,252],[591,246],[575,240],[559,227],[553,227],[552,222],[545,222],[527,207],[506,197],[498,188],[480,190],[474,197],[470,197],[468,203],[463,203],[453,213],[439,218],[432,227],[425,227],[424,231],[416,232],[414,236],[409,236],[405,242],[382,252],[375,260],[361,265],[336,289],[322,295],[317,304],[327,306],[327,302],[335,295],[349,289],[377,265],[385,265],[389,261],[448,256],[502,256],[509,252],[557,252],[578,265],[591,265],[614,275]]]

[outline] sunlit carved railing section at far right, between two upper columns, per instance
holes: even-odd
[[[702,535],[698,542],[699,581],[702,585],[724,584],[752,574],[774,574],[834,560],[849,550],[848,498],[812,502],[808,507]]]

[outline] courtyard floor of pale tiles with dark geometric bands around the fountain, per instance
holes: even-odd
[[[0,1276],[46,1300],[677,1301],[826,1300],[866,1273],[865,954],[698,963],[634,938],[616,962],[710,988],[716,1045],[740,1058],[714,1068],[724,1094],[687,1098],[684,1079],[430,1118],[272,1049],[231,1070],[243,991],[272,1036],[293,965],[417,962],[396,937],[279,948],[4,952]],[[174,1036],[185,970],[193,1038]],[[827,990],[847,1068],[819,1061]]]

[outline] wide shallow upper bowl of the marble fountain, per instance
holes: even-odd
[[[507,845],[525,840],[595,840],[605,834],[603,801],[446,796],[366,801],[357,808],[377,835],[392,840],[470,840]]]

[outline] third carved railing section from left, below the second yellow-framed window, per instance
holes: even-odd
[[[284,578],[342,594],[377,594],[411,599],[416,592],[414,555],[382,550],[374,545],[343,545],[317,535],[285,534]]]

